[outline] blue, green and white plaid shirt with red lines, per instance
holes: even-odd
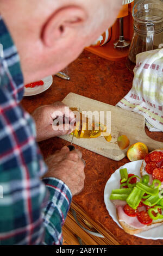
[[[72,194],[47,171],[32,117],[20,105],[20,59],[0,16],[0,244],[61,245]]]

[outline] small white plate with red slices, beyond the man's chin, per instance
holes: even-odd
[[[45,92],[53,83],[53,77],[47,76],[24,86],[24,96],[33,96]]]

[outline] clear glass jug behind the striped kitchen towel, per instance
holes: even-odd
[[[163,44],[163,2],[161,0],[139,1],[133,8],[134,35],[128,58],[136,63],[136,55],[154,50]]]

